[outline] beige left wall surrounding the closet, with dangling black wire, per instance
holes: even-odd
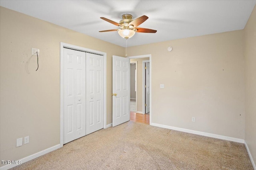
[[[18,160],[60,143],[60,42],[107,53],[107,124],[112,55],[124,47],[0,7],[0,157]],[[40,49],[39,69],[31,48]],[[30,143],[16,147],[16,139]],[[2,166],[2,165],[1,165]]]

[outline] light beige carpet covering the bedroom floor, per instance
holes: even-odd
[[[126,122],[15,170],[253,170],[244,144]]]

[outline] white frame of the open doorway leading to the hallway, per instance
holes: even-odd
[[[151,84],[152,84],[152,78],[151,78],[151,76],[152,76],[152,61],[151,61],[151,54],[146,54],[146,55],[137,55],[137,56],[130,56],[130,57],[126,57],[126,58],[129,58],[129,59],[139,59],[139,58],[146,58],[146,57],[149,57],[149,66],[150,66],[150,70],[149,70],[149,78],[150,78],[150,80],[149,80],[149,83],[150,83],[150,87],[149,87],[149,92],[150,92],[150,96],[149,96],[149,104],[150,104],[150,108],[149,108],[149,111],[150,111],[150,114],[149,114],[149,124],[150,125],[152,125],[152,123],[151,123],[151,117],[152,117],[152,104],[151,104],[151,102],[152,102],[152,100],[151,100],[151,94],[152,94],[152,86],[151,86]],[[145,105],[145,104],[144,104]],[[142,106],[142,108],[144,108],[145,109],[145,107],[144,106]]]

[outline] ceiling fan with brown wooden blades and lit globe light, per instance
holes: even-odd
[[[104,30],[104,31],[99,31],[99,32],[108,32],[108,31],[118,31],[118,34],[123,37],[124,39],[128,39],[132,37],[135,32],[139,33],[156,33],[156,30],[154,29],[148,29],[148,28],[139,28],[138,26],[142,24],[144,21],[148,19],[147,16],[141,16],[135,20],[132,20],[132,15],[131,14],[123,14],[122,15],[122,20],[117,23],[115,21],[109,20],[104,17],[100,17],[102,20],[105,20],[109,23],[112,23],[120,29],[109,29],[109,30]]]

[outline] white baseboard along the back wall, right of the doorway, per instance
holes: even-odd
[[[216,134],[212,134],[212,133],[194,131],[194,130],[190,130],[190,129],[183,129],[183,128],[180,128],[180,127],[161,125],[161,124],[158,124],[158,123],[151,123],[150,125],[156,126],[156,127],[163,127],[163,128],[166,128],[166,129],[172,129],[172,130],[176,130],[176,131],[182,131],[182,132],[186,132],[186,133],[192,133],[192,134],[196,134],[196,135],[213,137],[213,138],[217,138],[217,139],[224,139],[224,140],[232,141],[232,142],[244,143],[244,139],[238,139],[238,138],[234,138],[234,137],[227,137],[227,136],[216,135]]]

